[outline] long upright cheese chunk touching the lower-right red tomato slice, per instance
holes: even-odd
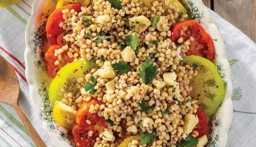
[[[186,136],[189,135],[189,133],[192,132],[193,128],[198,124],[198,116],[195,116],[193,114],[186,114],[185,116],[185,122],[183,127],[184,132],[182,133],[183,139],[186,138]]]

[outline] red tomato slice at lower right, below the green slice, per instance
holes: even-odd
[[[204,136],[208,130],[208,125],[206,121],[207,117],[205,112],[200,108],[197,108],[196,115],[198,116],[198,124],[195,126],[193,131],[197,131],[199,135],[196,138],[200,138]]]

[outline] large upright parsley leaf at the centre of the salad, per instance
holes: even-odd
[[[141,65],[142,69],[139,68],[139,75],[145,84],[151,83],[158,74],[157,65],[153,65],[153,62],[150,63],[149,57],[146,57],[145,63]]]

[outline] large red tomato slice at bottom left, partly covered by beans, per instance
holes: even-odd
[[[76,115],[77,123],[73,126],[72,133],[74,136],[75,145],[77,147],[93,147],[96,138],[101,132],[104,132],[104,128],[107,128],[104,117],[98,116],[96,113],[90,113],[90,105],[104,104],[102,101],[92,99],[89,102],[83,103]],[[86,120],[91,123],[88,124]],[[89,136],[89,131],[93,131],[93,135]]]

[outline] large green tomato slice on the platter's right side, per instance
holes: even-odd
[[[205,111],[206,116],[213,114],[224,98],[224,83],[218,74],[216,66],[209,60],[197,55],[183,56],[184,64],[198,65],[198,75],[192,77],[189,85],[193,88],[189,94],[198,99],[198,106]]]

